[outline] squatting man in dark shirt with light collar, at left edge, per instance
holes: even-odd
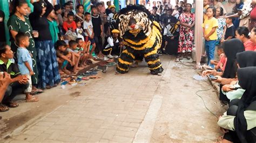
[[[8,111],[9,109],[6,106],[9,108],[16,108],[18,104],[12,102],[12,99],[14,99],[16,95],[21,94],[29,86],[28,78],[19,73],[18,65],[14,62],[13,58],[14,54],[11,51],[11,47],[6,44],[1,44],[0,72],[6,72],[10,74],[11,81],[10,85],[8,85],[6,88],[3,100],[0,103],[0,112]],[[8,77],[8,74],[5,75]]]

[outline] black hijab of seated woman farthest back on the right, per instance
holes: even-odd
[[[227,63],[225,71],[223,73],[224,78],[234,78],[237,70],[235,70],[236,65],[235,60],[237,59],[237,53],[245,51],[244,44],[238,39],[230,39],[224,42],[224,53],[227,57]]]

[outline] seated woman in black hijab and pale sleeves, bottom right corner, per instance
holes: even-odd
[[[240,68],[237,73],[245,92],[241,99],[233,99],[219,117],[218,125],[224,133],[221,142],[255,142],[247,131],[256,127],[256,67]]]

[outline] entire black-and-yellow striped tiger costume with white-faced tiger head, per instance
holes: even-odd
[[[161,47],[161,28],[152,20],[150,12],[143,5],[128,5],[119,11],[116,23],[126,49],[118,59],[118,73],[127,73],[134,60],[147,62],[150,73],[161,75],[158,49]]]

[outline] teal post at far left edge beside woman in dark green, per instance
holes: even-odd
[[[6,43],[10,45],[10,34],[9,34],[9,28],[7,27],[7,22],[10,16],[9,12],[9,3],[8,1],[0,1],[0,9],[4,12],[4,29],[5,29],[5,39]]]

